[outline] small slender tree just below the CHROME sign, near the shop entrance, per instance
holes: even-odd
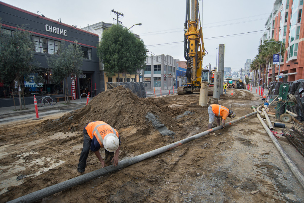
[[[70,103],[67,85],[68,77],[79,77],[82,74],[81,66],[83,61],[83,51],[77,40],[74,44],[66,46],[64,41],[60,42],[59,49],[55,55],[47,57],[47,65],[52,68],[52,78],[56,83],[65,79],[65,95],[67,96],[66,103]]]

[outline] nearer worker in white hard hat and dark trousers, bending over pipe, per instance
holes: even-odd
[[[102,159],[99,152],[101,147],[105,148],[105,161]],[[85,171],[90,149],[95,153],[103,168],[106,164],[111,164],[111,162],[113,162],[114,166],[117,166],[119,148],[120,136],[114,128],[103,121],[88,123],[83,129],[83,148],[81,150],[77,168],[78,174],[82,174]]]

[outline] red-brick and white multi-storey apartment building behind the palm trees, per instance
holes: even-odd
[[[264,40],[275,39],[285,43],[285,54],[281,56],[280,68],[276,65],[272,73],[268,68],[270,79],[275,74],[275,81],[291,82],[304,79],[304,26],[302,25],[303,0],[275,0],[273,9],[265,23],[265,32],[260,44]],[[277,44],[280,46],[279,44]],[[280,72],[279,72],[280,71]],[[268,80],[269,81],[269,80]]]

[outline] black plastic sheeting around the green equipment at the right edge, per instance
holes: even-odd
[[[304,80],[296,80],[293,82],[270,82],[269,91],[268,94],[279,94],[279,89],[281,84],[288,84],[289,85],[289,91],[288,94],[292,94],[295,96],[295,99],[297,100],[297,104],[292,107],[293,110],[291,110],[290,107],[287,107],[287,109],[291,112],[295,112],[300,117],[304,117]]]

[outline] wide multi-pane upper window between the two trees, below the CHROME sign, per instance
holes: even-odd
[[[35,51],[44,54],[57,54],[60,41],[50,40],[43,37],[33,37]]]

